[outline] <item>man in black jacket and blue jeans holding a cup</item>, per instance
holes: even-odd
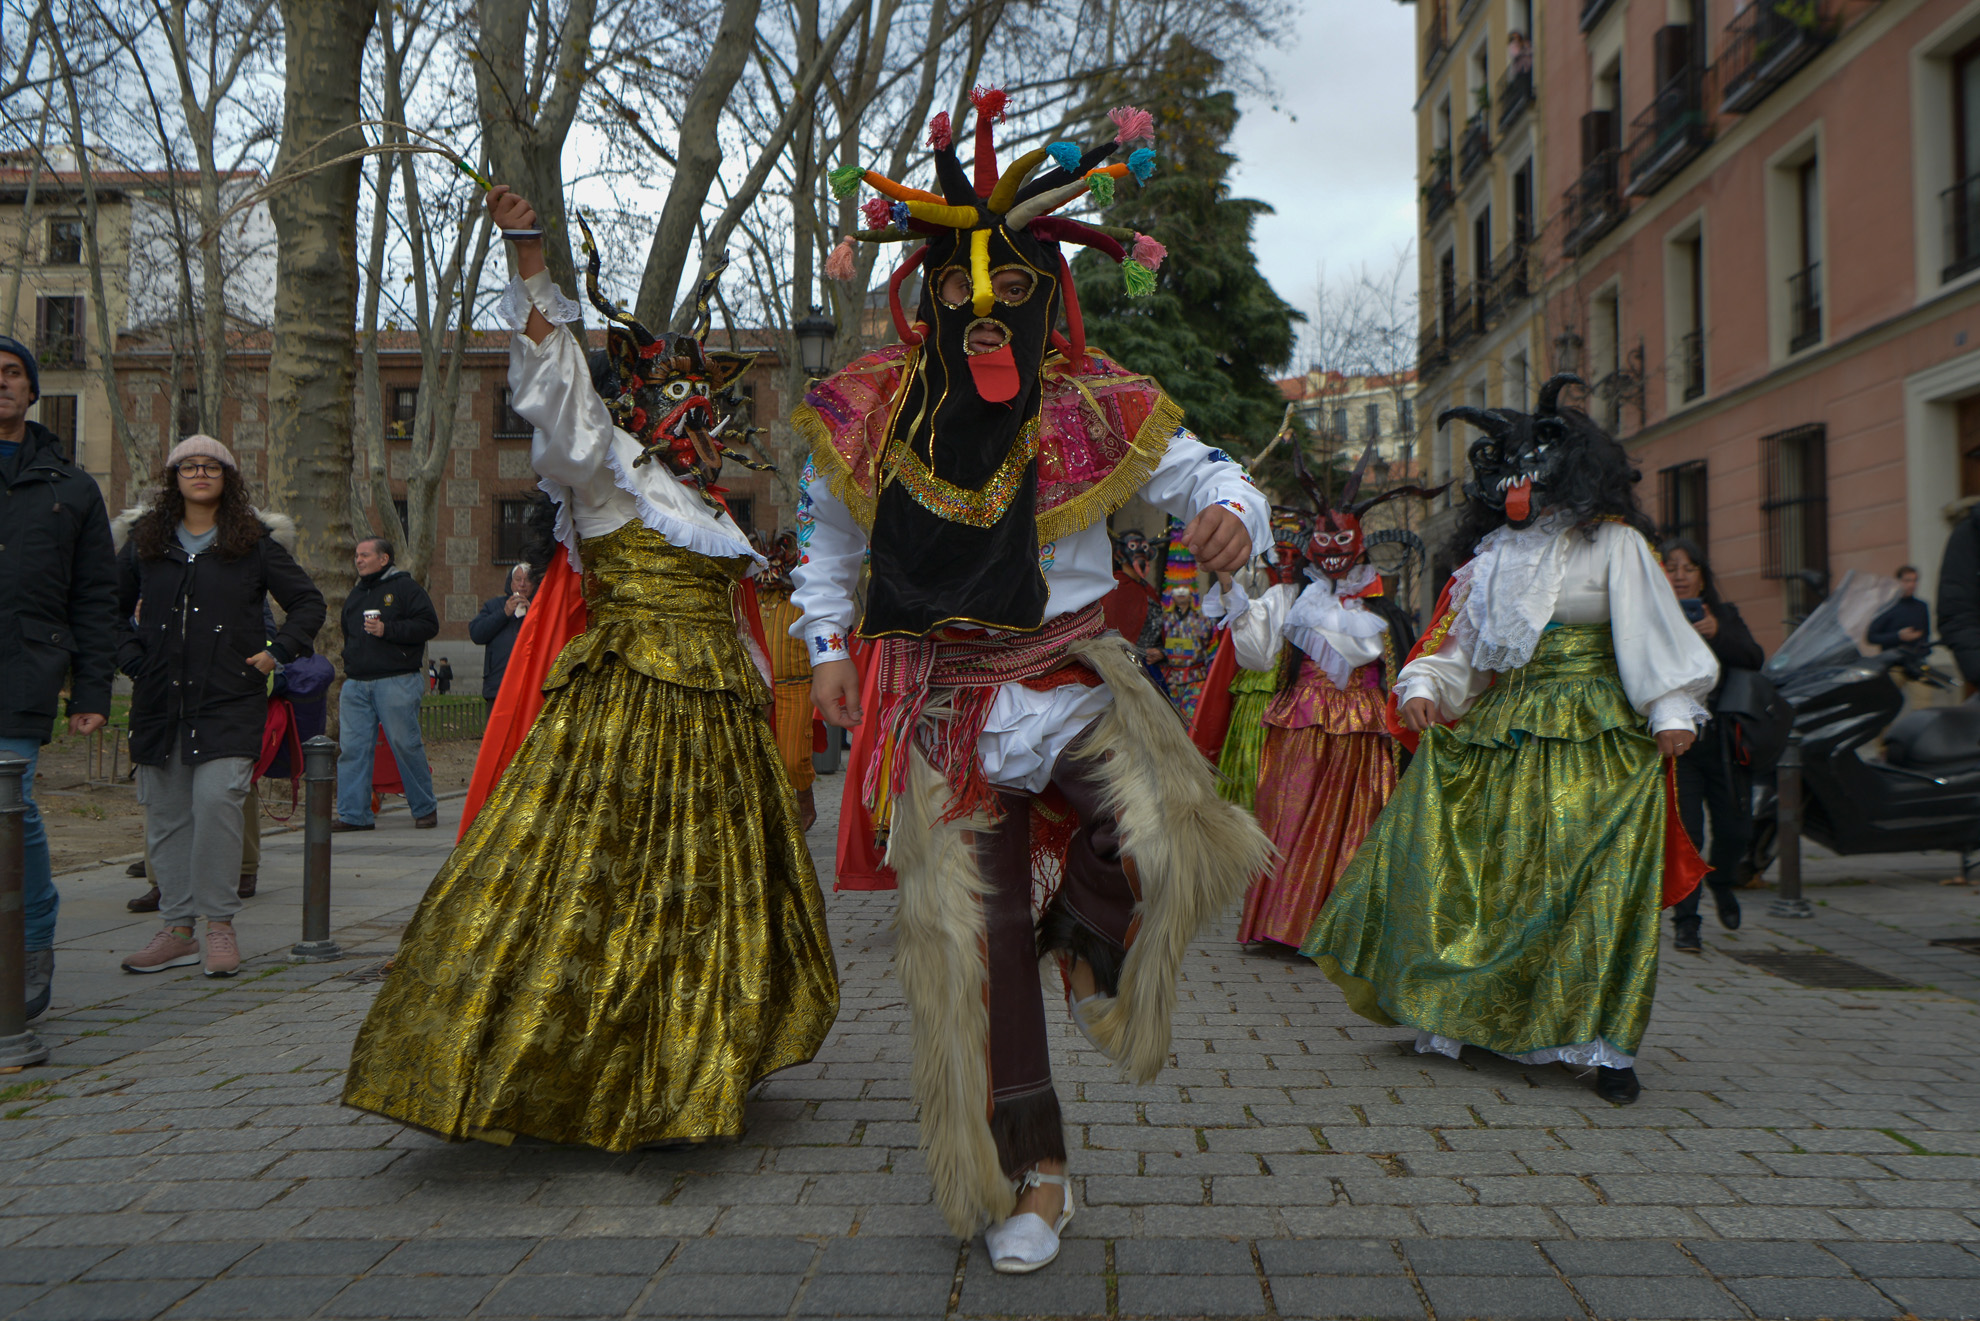
[[[426,588],[392,562],[392,543],[366,537],[352,557],[358,584],[345,598],[345,687],[337,695],[343,753],[337,757],[337,822],[331,830],[372,830],[372,755],[378,731],[398,762],[412,824],[440,824],[434,772],[420,739],[420,658],[440,632]]]

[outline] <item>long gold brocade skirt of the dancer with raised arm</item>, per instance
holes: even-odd
[[[638,525],[582,551],[590,628],[414,913],[345,1103],[455,1139],[735,1137],[840,1006],[739,566]]]

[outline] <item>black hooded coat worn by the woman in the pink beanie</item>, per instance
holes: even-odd
[[[261,620],[265,596],[285,612],[273,640]],[[273,531],[238,559],[218,549],[186,555],[172,541],[160,559],[147,560],[135,541],[127,543],[117,557],[117,667],[135,685],[131,761],[162,766],[174,745],[186,764],[259,759],[267,675],[248,658],[267,652],[287,663],[309,656],[323,618],[323,592]]]

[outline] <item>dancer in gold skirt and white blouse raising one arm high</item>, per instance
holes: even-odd
[[[511,406],[537,428],[588,624],[408,925],[345,1103],[451,1139],[737,1137],[750,1085],[810,1060],[840,1004],[766,667],[739,628],[762,559],[705,491],[748,358],[657,343],[598,297],[592,255],[614,325],[588,372],[535,212],[507,188],[489,208],[517,248]]]

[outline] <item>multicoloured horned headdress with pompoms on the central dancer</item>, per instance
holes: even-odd
[[[1115,137],[1093,149],[1077,143],[1051,143],[1028,151],[1008,168],[998,168],[992,133],[1006,117],[1008,95],[1000,89],[978,87],[970,93],[976,107],[976,160],[972,172],[956,158],[954,133],[948,113],[942,111],[929,121],[929,147],[935,149],[935,178],[940,192],[909,188],[875,170],[855,164],[832,170],[832,192],[849,198],[859,184],[871,186],[879,196],[861,204],[865,230],[840,240],[840,246],[826,259],[826,275],[832,279],[851,279],[853,242],[863,244],[909,244],[931,240],[917,248],[893,273],[887,283],[887,305],[893,311],[895,331],[909,345],[919,345],[927,335],[927,323],[911,325],[901,311],[901,283],[915,267],[927,267],[933,277],[940,267],[933,257],[942,255],[937,248],[956,246],[952,255],[970,271],[974,285],[976,315],[984,317],[992,307],[990,275],[996,265],[998,240],[1032,238],[1040,246],[1051,246],[1045,254],[1055,261],[1059,289],[1065,305],[1067,335],[1051,329],[1051,347],[1073,362],[1085,356],[1085,327],[1079,319],[1079,299],[1073,295],[1071,269],[1057,254],[1057,244],[1079,244],[1107,254],[1121,263],[1121,275],[1129,295],[1154,293],[1154,271],[1160,269],[1168,252],[1156,240],[1119,226],[1087,224],[1055,216],[1061,206],[1091,196],[1101,206],[1113,204],[1115,182],[1133,176],[1146,182],[1154,174],[1152,147],[1137,143],[1154,141],[1154,117],[1131,105],[1109,111],[1115,123]],[[1125,160],[1109,158],[1127,152]],[[1043,174],[1032,176],[1040,166],[1049,164]],[[1000,234],[1002,232],[1002,234]],[[935,244],[933,240],[950,240]],[[962,244],[954,244],[962,240]],[[1020,244],[1020,250],[1024,246]]]

